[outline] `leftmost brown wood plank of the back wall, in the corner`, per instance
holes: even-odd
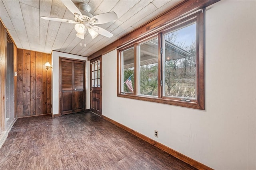
[[[17,49],[17,117],[23,117],[23,50]]]

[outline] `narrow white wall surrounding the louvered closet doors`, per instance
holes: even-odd
[[[87,57],[52,51],[52,114],[59,113],[59,57],[86,61],[86,109],[90,109],[90,62]]]

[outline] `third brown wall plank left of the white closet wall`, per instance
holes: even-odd
[[[42,53],[36,52],[36,115],[42,114]]]

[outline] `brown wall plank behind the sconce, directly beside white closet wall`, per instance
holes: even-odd
[[[51,63],[52,55],[47,54],[47,61],[52,65]],[[51,113],[51,106],[52,106],[52,68],[47,70],[47,112]]]

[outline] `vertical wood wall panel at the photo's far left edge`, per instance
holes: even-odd
[[[0,23],[0,135],[5,131],[5,28]]]

